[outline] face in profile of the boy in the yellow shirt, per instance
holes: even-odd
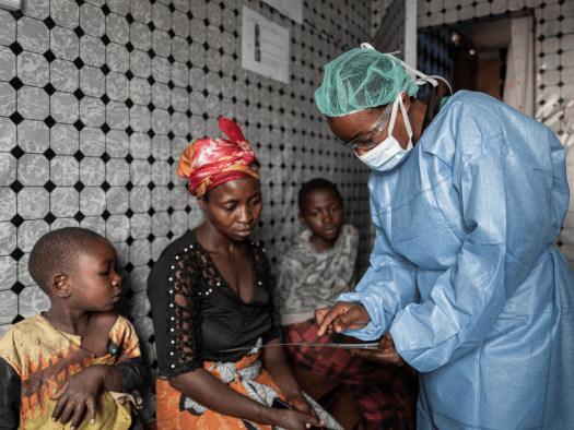
[[[93,240],[78,260],[71,276],[74,308],[109,311],[121,295],[121,277],[116,273],[116,250],[107,240]]]

